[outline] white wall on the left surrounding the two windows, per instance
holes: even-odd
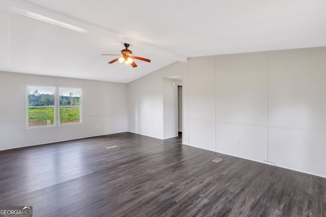
[[[83,123],[27,129],[27,85],[82,88]],[[122,83],[0,72],[0,102],[0,150],[127,131]]]

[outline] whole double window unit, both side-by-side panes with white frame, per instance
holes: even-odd
[[[28,86],[28,128],[81,123],[81,92],[80,88]]]

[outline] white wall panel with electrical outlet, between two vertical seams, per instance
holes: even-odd
[[[266,160],[266,53],[215,57],[216,151]],[[235,144],[239,139],[239,144]]]

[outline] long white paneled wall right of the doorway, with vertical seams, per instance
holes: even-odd
[[[325,59],[325,47],[189,58],[183,143],[326,177]]]

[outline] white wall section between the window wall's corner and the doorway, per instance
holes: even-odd
[[[165,77],[182,75],[183,65],[176,62],[128,83],[129,132],[159,139],[178,136],[178,85],[182,81]]]

